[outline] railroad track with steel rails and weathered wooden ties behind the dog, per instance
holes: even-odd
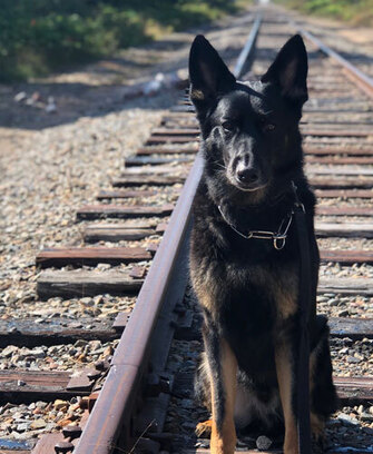
[[[297,29],[271,10],[253,18],[252,26],[235,66],[243,78],[248,69],[249,77],[263,73],[278,46]],[[307,175],[320,200],[320,310],[330,316],[334,366],[340,371],[335,384],[342,404],[350,408],[338,414],[334,427],[345,424],[349,435],[351,424],[362,437],[340,433],[333,437],[331,426],[331,452],[338,452],[338,444],[364,452],[373,433],[369,413],[373,404],[373,307],[369,305],[373,81],[306,30],[301,32],[310,53],[310,101],[302,131]],[[59,297],[61,305],[66,298],[79,298],[88,316],[79,323],[57,316],[48,325],[27,317],[21,323],[0,322],[0,339],[9,356],[22,347],[26,358],[22,369],[0,371],[1,414],[13,403],[32,406],[37,401],[50,402],[61,413],[60,432],[43,434],[37,444],[0,440],[1,453],[13,453],[14,447],[22,454],[208,452],[193,431],[203,411],[190,404],[200,348],[200,315],[188,292],[187,274],[190,207],[202,175],[197,150],[197,122],[185,95],[144,147],[126,159],[111,187],[97,195],[97,204],[77,210],[77,221],[85,223],[86,245],[37,256],[39,298]],[[120,296],[116,304],[122,310],[115,319],[99,317],[102,294]],[[45,364],[56,345],[76,352],[77,361],[68,371]],[[177,345],[184,356],[175,354]],[[30,371],[27,362],[38,355],[40,367]],[[175,355],[185,367],[175,366]],[[340,366],[344,358],[357,371],[354,376]],[[184,408],[181,401],[188,401]],[[353,407],[361,405],[359,420]],[[31,426],[33,435],[47,426],[39,420]],[[252,442],[243,442],[246,453],[252,452]],[[195,443],[200,447],[194,448]]]

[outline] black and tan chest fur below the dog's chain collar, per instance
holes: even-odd
[[[203,193],[202,185],[195,200],[190,256],[190,274],[199,302],[216,317],[227,310],[239,312],[252,323],[261,322],[261,328],[263,322],[268,329],[278,327],[296,312],[294,235],[283,250],[276,250],[273,240],[242,238]],[[273,214],[277,223],[286,208]],[[291,233],[292,229],[293,226]]]

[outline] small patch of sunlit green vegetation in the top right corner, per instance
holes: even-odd
[[[276,0],[276,2],[305,13],[337,18],[352,24],[373,24],[372,0]]]

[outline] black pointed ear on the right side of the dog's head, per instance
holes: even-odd
[[[291,38],[277,53],[262,82],[275,83],[281,93],[301,106],[308,99],[307,52],[300,34]]]

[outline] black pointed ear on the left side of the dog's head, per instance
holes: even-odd
[[[197,110],[206,109],[234,88],[235,77],[205,37],[198,34],[189,53],[190,99]]]

